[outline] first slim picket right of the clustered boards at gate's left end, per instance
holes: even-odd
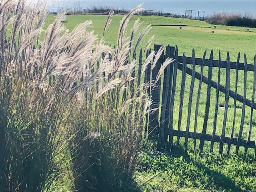
[[[180,87],[180,108],[179,108],[179,119],[178,119],[178,131],[180,131],[181,126],[181,119],[182,119],[182,109],[183,109],[183,102],[184,102],[184,90],[186,84],[186,56],[183,54],[183,63],[182,63],[182,77],[181,77],[181,87]],[[180,136],[177,137],[177,143],[180,144]]]

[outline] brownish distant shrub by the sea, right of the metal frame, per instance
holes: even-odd
[[[206,18],[206,22],[210,24],[241,26],[241,27],[256,27],[256,18],[252,14],[238,13],[213,13]]]

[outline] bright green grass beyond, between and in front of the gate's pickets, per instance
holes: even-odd
[[[139,16],[134,16],[131,20],[133,23]],[[119,28],[119,23],[122,16],[113,16],[112,24],[108,29],[105,41],[107,44],[114,45],[116,44],[116,36]],[[48,16],[48,22],[46,26],[52,22],[54,16]],[[92,20],[94,26],[91,30],[94,30],[96,34],[99,34],[99,37],[102,34],[102,30],[105,24],[106,16],[96,16],[96,15],[73,15],[67,16],[67,22],[64,25],[72,30],[76,24],[80,22],[84,22],[85,20]],[[186,24],[186,25],[196,25],[196,26],[211,26],[210,24],[202,21],[194,21],[187,19],[178,19],[178,18],[165,18],[165,17],[156,17],[156,16],[141,16],[140,20],[144,23],[143,26],[146,26],[148,23],[151,24]],[[131,28],[131,24],[129,28]],[[246,28],[242,27],[229,27],[229,26],[217,26],[217,28],[229,28],[229,29],[239,29],[245,30]],[[255,29],[251,29],[255,30]],[[160,43],[164,45],[168,45],[170,43],[171,46],[178,45],[180,55],[182,52],[186,54],[186,56],[192,55],[192,48],[196,51],[197,57],[202,57],[202,54],[205,49],[208,50],[207,58],[210,54],[210,49],[214,51],[214,58],[217,59],[218,50],[222,51],[222,59],[226,58],[226,52],[230,52],[230,57],[232,61],[236,60],[238,52],[241,52],[242,55],[246,53],[247,59],[249,63],[253,62],[255,50],[255,41],[256,41],[256,33],[248,32],[241,34],[229,34],[228,31],[225,34],[218,33],[209,33],[209,32],[198,32],[195,30],[180,30],[178,28],[170,28],[170,27],[160,27],[153,26],[152,30],[148,34],[147,38],[142,42],[142,48],[146,44],[146,39],[148,37],[155,34],[153,43]],[[243,56],[241,56],[241,61],[243,60]],[[200,69],[196,69],[197,72],[200,72]],[[225,74],[226,71],[224,69],[221,70],[221,84],[225,85]],[[204,69],[204,75],[207,76],[208,71],[207,68]],[[234,90],[234,82],[235,82],[235,73],[234,70],[231,71],[231,89]],[[243,72],[239,72],[239,83],[238,83],[238,93],[243,94]],[[189,90],[190,86],[190,76],[186,78],[186,88],[185,90]],[[178,72],[177,77],[177,90],[180,89],[180,79],[181,72]],[[217,69],[213,71],[213,79],[217,80]],[[198,81],[195,83],[194,92],[197,92]],[[252,73],[248,72],[248,97],[252,97]],[[202,93],[206,93],[207,86],[203,84]],[[174,108],[174,126],[178,124],[178,106],[179,106],[179,91],[176,91],[175,98],[175,108]],[[214,116],[214,105],[215,105],[215,90],[212,89],[213,96],[211,97],[211,106],[210,106],[210,116],[208,120],[208,133],[211,134],[212,130],[212,122]],[[182,129],[186,128],[186,116],[188,111],[188,100],[189,94],[185,92],[184,95],[184,106],[183,106],[183,116],[182,116]],[[193,97],[192,104],[192,116],[190,122],[190,130],[194,129],[194,110],[195,110],[195,102],[196,102],[196,94]],[[199,108],[199,116],[198,116],[198,131],[202,130],[202,124],[204,120],[204,110],[206,104],[206,95],[202,94],[200,98],[200,108]],[[231,127],[232,127],[232,118],[233,118],[233,100],[230,99],[229,102],[230,109],[228,110],[228,121],[226,124],[226,136],[230,135]],[[224,106],[224,94],[220,96],[220,106]],[[242,106],[241,103],[238,102],[238,106]],[[239,125],[240,125],[240,116],[241,110],[237,110],[237,118],[235,124],[235,134],[236,137],[238,135]],[[220,108],[218,110],[218,122],[217,122],[217,134],[220,134],[222,127],[222,118],[223,118],[223,109]],[[246,138],[248,125],[250,118],[250,108],[246,108],[246,118],[245,118],[245,126],[244,132],[242,134],[242,138]],[[254,125],[256,124],[256,116],[254,116],[253,120]],[[256,139],[256,127],[253,127],[252,130],[252,139]],[[182,142],[182,141],[181,141]],[[189,142],[189,148],[192,146],[192,140]],[[209,145],[209,142],[206,142],[206,145]],[[209,148],[205,146],[205,150],[207,151]],[[224,147],[225,149],[225,147]],[[215,154],[218,153],[218,145],[216,144],[214,147]],[[225,150],[224,150],[225,151]],[[232,148],[234,151],[234,147]],[[240,150],[241,154],[243,152],[243,148]],[[249,150],[250,154],[253,154],[253,150]],[[182,156],[184,156],[184,160],[177,167],[171,167],[167,172],[158,176],[158,178],[149,182],[146,186],[142,187],[141,190],[144,191],[166,191],[170,189],[177,189],[177,186],[180,187],[188,187],[187,191],[194,191],[193,188],[198,188],[199,190],[210,190],[210,191],[222,191],[224,189],[229,189],[230,191],[255,191],[256,184],[253,182],[256,178],[255,174],[255,163],[252,163],[249,160],[234,158],[231,156],[229,158],[225,158],[220,156],[220,160],[218,160],[219,156],[211,156],[211,154],[206,153],[205,156],[199,157],[195,152],[180,152]],[[178,156],[176,154],[176,156]],[[209,157],[210,156],[210,157]],[[242,155],[240,155],[242,156]],[[215,158],[214,158],[215,157]],[[155,159],[155,158],[153,158]],[[174,160],[174,158],[168,158],[170,161]],[[157,160],[155,160],[157,161]],[[163,160],[162,160],[163,161]],[[152,164],[152,163],[151,163]],[[248,170],[249,169],[249,170]],[[161,170],[161,169],[160,169]],[[147,180],[152,174],[157,172],[158,169],[155,167],[149,166],[146,172],[139,172],[136,175],[137,182],[141,183]],[[170,174],[171,173],[171,174]],[[184,179],[186,180],[184,181]],[[243,184],[244,183],[244,184]],[[179,188],[179,187],[178,187]],[[192,188],[190,190],[190,188]],[[180,189],[180,191],[185,191],[184,188]],[[226,190],[228,191],[228,190]]]

